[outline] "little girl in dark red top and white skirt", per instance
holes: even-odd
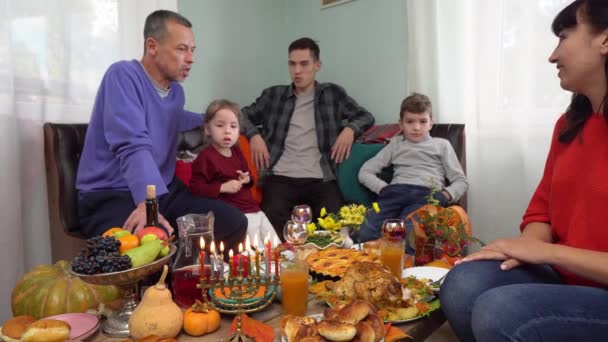
[[[238,142],[241,111],[228,100],[215,100],[205,111],[203,134],[208,146],[192,164],[190,191],[239,208],[249,221],[247,235],[276,236],[272,224],[251,195],[253,182]],[[221,228],[221,227],[220,227]],[[278,237],[277,237],[278,238]]]

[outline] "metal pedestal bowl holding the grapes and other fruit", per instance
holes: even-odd
[[[111,272],[111,273],[99,273],[99,274],[80,274],[74,272],[70,268],[70,273],[74,276],[79,277],[84,282],[94,285],[116,285],[120,286],[124,291],[124,304],[119,312],[108,317],[102,324],[102,330],[105,334],[111,337],[129,337],[129,317],[137,307],[137,301],[135,291],[137,290],[137,283],[147,276],[150,276],[160,270],[163,266],[171,261],[171,257],[177,251],[177,247],[174,244],[169,245],[169,254],[166,256],[154,260],[153,262],[143,265],[140,267],[130,268],[128,270]]]

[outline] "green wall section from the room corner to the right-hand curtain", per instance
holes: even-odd
[[[319,42],[320,81],[343,86],[378,123],[396,122],[406,94],[407,21],[403,0],[353,0],[321,9],[286,0],[288,41]]]

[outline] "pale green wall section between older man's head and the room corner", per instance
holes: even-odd
[[[202,112],[220,97],[246,105],[289,80],[285,9],[283,0],[178,0],[197,44],[184,82],[187,109]]]

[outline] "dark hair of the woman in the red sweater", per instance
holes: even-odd
[[[559,12],[553,19],[551,29],[556,36],[559,36],[564,29],[575,27],[579,18],[583,18],[586,23],[589,23],[595,32],[608,29],[608,1],[576,0]],[[604,65],[604,70],[608,79],[608,60]],[[599,110],[608,120],[608,94],[604,95]],[[581,131],[587,119],[591,117],[593,111],[594,108],[587,96],[572,94],[572,100],[566,111],[566,127],[559,132],[558,140],[562,143],[571,142]]]

